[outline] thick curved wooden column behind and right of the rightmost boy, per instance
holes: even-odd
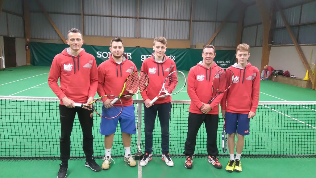
[[[261,68],[269,64],[269,57],[270,57],[270,48],[269,48],[269,33],[270,33],[270,11],[266,7],[264,0],[256,0],[259,13],[262,19],[262,26],[263,26],[263,41],[262,41],[262,56],[261,56]]]

